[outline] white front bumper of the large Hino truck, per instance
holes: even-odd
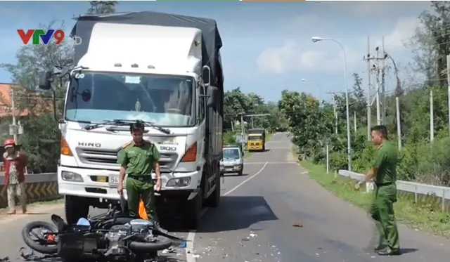
[[[63,179],[63,172],[70,172],[71,176],[81,177],[82,181],[67,181]],[[77,167],[58,166],[58,191],[60,195],[75,195],[79,197],[91,197],[97,199],[120,199],[117,193],[117,185],[110,185],[108,181],[99,181],[98,178],[119,176],[119,171],[105,169],[82,169]],[[155,178],[155,173],[152,174]],[[190,178],[190,179],[189,179]],[[161,195],[173,195],[191,198],[197,192],[202,178],[202,171],[183,173],[161,173]],[[184,185],[174,185],[174,181],[190,180]],[[169,183],[170,182],[170,183]],[[168,184],[169,183],[169,184]],[[172,185],[172,186],[171,186]],[[127,190],[124,189],[124,197],[127,198]]]

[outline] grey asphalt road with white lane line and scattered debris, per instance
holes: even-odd
[[[192,241],[186,250],[176,248],[165,254],[166,261],[428,262],[450,257],[449,240],[403,225],[399,228],[401,256],[369,252],[374,228],[366,212],[311,180],[294,162],[285,134],[274,135],[266,148],[246,160],[245,176],[226,176],[221,205],[203,212],[203,225],[197,232],[173,232]],[[0,258],[18,259],[25,223],[48,221],[50,214],[63,213],[61,204],[31,210],[41,214],[0,218],[4,237]],[[293,227],[296,222],[303,227]]]

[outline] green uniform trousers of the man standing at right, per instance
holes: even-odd
[[[398,250],[400,244],[397,221],[394,216],[395,202],[397,202],[395,184],[377,186],[371,206],[371,216],[380,235],[379,244]]]

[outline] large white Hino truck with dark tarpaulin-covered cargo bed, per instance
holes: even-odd
[[[202,207],[220,199],[224,76],[216,22],[155,12],[82,15],[71,35],[82,39],[75,66],[39,79],[46,90],[69,79],[58,166],[66,219],[120,199],[117,155],[131,140],[129,123],[141,120],[144,139],[162,155],[160,220],[181,215],[197,228]]]

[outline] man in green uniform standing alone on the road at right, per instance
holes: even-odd
[[[397,202],[397,148],[387,140],[386,126],[372,128],[372,142],[377,147],[372,168],[362,181],[356,183],[355,188],[359,189],[363,183],[374,180],[376,190],[371,216],[380,234],[375,251],[383,256],[399,255],[399,232],[393,205]]]

